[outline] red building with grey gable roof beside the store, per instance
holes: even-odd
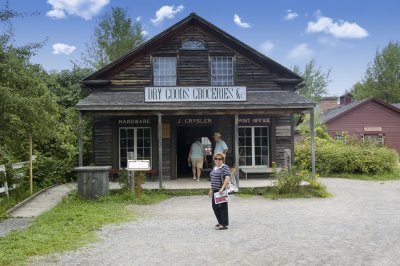
[[[400,154],[399,108],[376,98],[340,102],[340,107],[321,114],[329,135],[343,139],[348,134],[362,140],[381,142]]]

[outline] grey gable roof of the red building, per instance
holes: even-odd
[[[360,100],[360,101],[349,103],[347,105],[344,105],[344,106],[341,106],[341,107],[338,107],[338,108],[329,109],[329,110],[327,110],[326,112],[324,112],[321,115],[321,117],[320,117],[321,121],[323,123],[329,123],[329,122],[331,122],[331,121],[333,121],[333,120],[335,120],[335,119],[337,119],[339,117],[342,117],[342,116],[346,115],[349,112],[354,111],[355,109],[359,108],[360,106],[366,105],[366,104],[368,104],[370,102],[376,102],[376,103],[378,103],[380,105],[385,106],[388,109],[391,109],[391,110],[393,110],[395,112],[400,113],[400,109],[397,108],[396,106],[394,106],[392,104],[387,104],[384,101],[379,100],[377,98],[370,97],[370,98],[367,98],[367,99],[364,99],[364,100]]]

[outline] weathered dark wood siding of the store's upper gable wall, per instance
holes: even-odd
[[[182,42],[188,39],[200,39],[205,42],[207,50],[182,50]],[[151,55],[150,55],[151,54]],[[210,82],[210,57],[217,55],[234,56],[235,84],[248,88],[276,90],[279,86],[274,82],[277,78],[272,70],[265,69],[245,56],[228,48],[210,34],[194,26],[174,38],[167,40],[162,46],[150,54],[135,58],[126,63],[126,68],[117,71],[107,79],[111,79],[114,90],[143,90],[152,86],[152,56],[177,57],[177,86],[207,86]]]

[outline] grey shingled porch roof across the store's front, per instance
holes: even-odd
[[[80,111],[193,111],[312,109],[315,103],[293,91],[254,90],[243,102],[145,102],[144,92],[96,92],[77,104]]]

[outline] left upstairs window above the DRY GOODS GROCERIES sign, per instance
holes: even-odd
[[[176,58],[154,57],[154,86],[176,86]]]

